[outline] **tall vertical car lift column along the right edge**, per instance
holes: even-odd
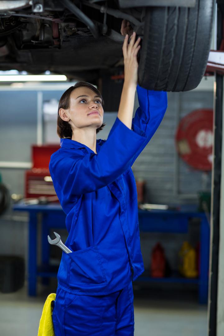
[[[216,37],[215,37],[216,38]],[[214,145],[212,170],[211,235],[208,300],[208,335],[224,335],[223,281],[224,267],[224,141],[223,75],[224,75],[224,4],[217,0],[217,49],[209,55],[208,67],[214,71]],[[222,203],[221,203],[222,202]],[[222,253],[222,255],[221,255]],[[219,285],[219,287],[218,287]]]

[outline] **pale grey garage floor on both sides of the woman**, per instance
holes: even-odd
[[[36,336],[43,304],[53,287],[38,284],[38,296],[29,297],[27,286],[0,293],[0,335]],[[135,336],[206,336],[207,306],[197,295],[183,291],[134,289]]]

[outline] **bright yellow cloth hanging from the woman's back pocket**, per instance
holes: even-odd
[[[55,301],[55,297],[55,293],[49,294],[44,303],[42,315],[40,318],[38,336],[54,336],[54,327],[52,321],[52,301]]]

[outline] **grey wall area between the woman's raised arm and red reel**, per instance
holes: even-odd
[[[135,178],[146,180],[146,202],[194,203],[198,191],[210,190],[211,173],[192,169],[175,148],[179,120],[199,108],[213,108],[213,92],[168,93],[164,119],[132,167]]]

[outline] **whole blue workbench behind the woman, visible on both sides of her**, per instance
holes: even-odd
[[[29,242],[28,242],[28,294],[36,296],[37,277],[47,280],[56,277],[58,266],[49,265],[50,244],[47,236],[49,229],[65,228],[65,213],[57,203],[51,205],[13,206],[15,211],[29,212]],[[41,265],[37,264],[37,225],[38,214],[41,213]],[[136,281],[173,282],[198,284],[198,299],[200,303],[208,301],[208,274],[210,224],[205,213],[197,212],[196,206],[182,207],[180,210],[141,210],[138,209],[140,232],[187,233],[189,219],[200,219],[200,272],[199,277],[188,279],[181,276],[169,278],[151,278],[144,273]]]

